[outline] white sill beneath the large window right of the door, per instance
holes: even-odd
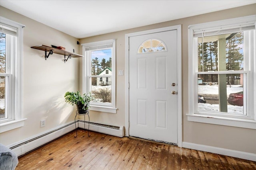
[[[193,115],[187,114],[187,116],[188,116],[188,121],[256,129],[256,121],[252,119],[238,119],[238,118],[231,118],[231,117],[220,117],[220,116],[201,115],[201,114],[193,114]]]

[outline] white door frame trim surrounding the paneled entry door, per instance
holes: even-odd
[[[129,38],[137,35],[177,30],[177,139],[182,147],[182,63],[181,63],[181,25],[150,29],[125,34],[125,136],[129,136]]]

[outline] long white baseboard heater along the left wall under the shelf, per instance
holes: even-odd
[[[66,123],[65,125],[55,127],[53,129],[50,129],[48,131],[45,131],[33,137],[19,141],[18,143],[9,145],[8,147],[12,149],[12,151],[14,151],[17,154],[17,156],[21,156],[62,135],[65,135],[66,133],[74,129],[75,129],[74,122]]]

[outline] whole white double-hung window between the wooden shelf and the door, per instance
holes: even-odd
[[[94,100],[90,110],[116,113],[116,41],[114,39],[82,44],[83,91]]]

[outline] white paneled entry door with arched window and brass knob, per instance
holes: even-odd
[[[177,144],[177,30],[129,45],[129,135]]]

